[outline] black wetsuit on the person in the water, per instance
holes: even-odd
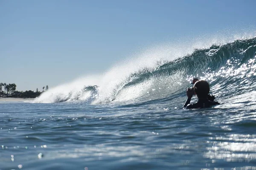
[[[186,109],[195,109],[195,108],[209,108],[212,105],[219,105],[219,102],[212,102],[208,99],[198,99],[198,102],[190,104],[191,99],[187,99],[185,105],[183,106]]]

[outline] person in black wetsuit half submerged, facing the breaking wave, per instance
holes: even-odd
[[[188,88],[186,95],[188,99],[186,100],[185,105],[183,106],[186,109],[194,108],[209,108],[212,105],[219,105],[219,102],[214,102],[214,96],[209,95],[210,86],[209,83],[205,80],[198,80],[195,82],[195,85],[192,88]],[[193,94],[196,94],[198,97],[198,102],[190,104]]]

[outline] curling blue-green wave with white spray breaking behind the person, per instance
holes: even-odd
[[[208,48],[163,48],[145,52],[103,75],[52,88],[34,102],[161,102],[186,96],[192,78],[206,79],[211,93],[228,99],[255,91],[255,59],[256,37],[213,43]]]

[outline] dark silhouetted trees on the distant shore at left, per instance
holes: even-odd
[[[17,85],[15,83],[12,84],[6,84],[6,83],[0,83],[0,97],[15,97],[15,98],[36,98],[41,93],[44,92],[44,89],[47,91],[49,89],[49,86],[43,87],[43,91],[38,91],[38,88],[36,88],[36,92],[34,91],[16,91]],[[4,88],[4,91],[3,91]]]

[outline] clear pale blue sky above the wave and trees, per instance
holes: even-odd
[[[0,0],[0,82],[42,90],[141,47],[256,26],[256,0]]]

